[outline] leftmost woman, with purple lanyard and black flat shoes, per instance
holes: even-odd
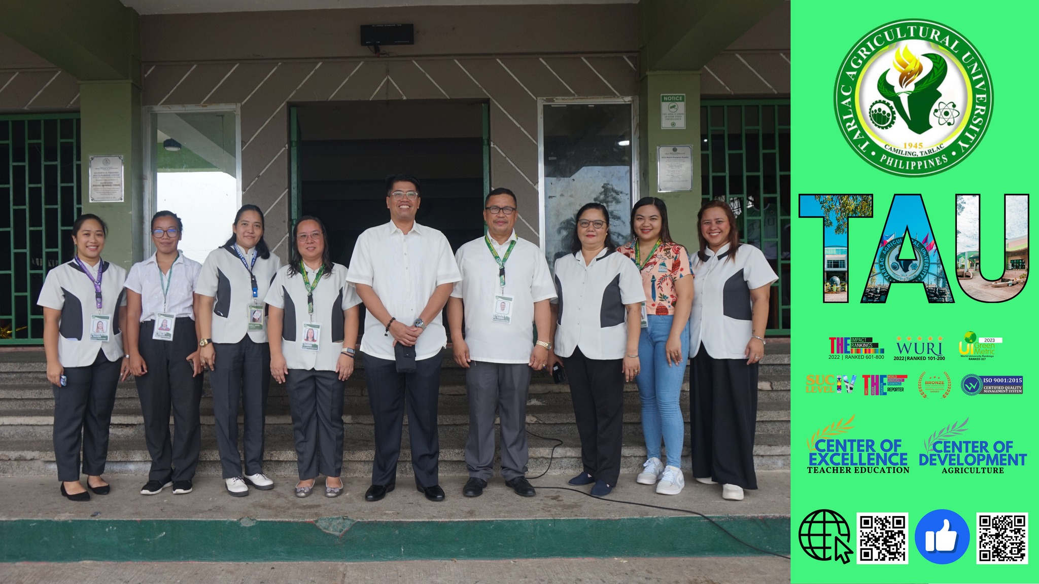
[[[37,303],[44,308],[47,380],[54,386],[54,461],[61,495],[89,501],[79,482],[82,472],[95,495],[107,495],[101,478],[108,458],[108,425],[119,376],[126,378],[123,330],[125,269],[101,259],[108,227],[97,215],[73,224],[76,255],[47,273]]]

